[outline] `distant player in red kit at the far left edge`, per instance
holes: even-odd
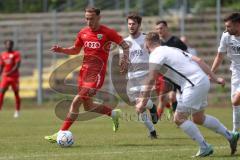
[[[21,56],[19,51],[14,51],[14,42],[6,40],[4,42],[6,51],[0,55],[0,73],[2,75],[0,83],[0,110],[2,109],[4,94],[8,87],[11,86],[15,95],[16,109],[14,118],[19,117],[20,96],[19,96],[19,67]]]

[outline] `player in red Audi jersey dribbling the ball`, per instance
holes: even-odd
[[[75,44],[69,48],[53,46],[51,51],[68,55],[78,54],[81,48],[84,49],[82,67],[78,78],[78,95],[76,95],[70,106],[69,113],[60,128],[60,131],[68,130],[77,119],[79,107],[83,104],[85,111],[97,112],[112,117],[113,131],[118,130],[119,109],[111,109],[105,105],[94,104],[92,97],[103,85],[107,60],[109,55],[110,42],[115,42],[123,49],[124,56],[120,58],[120,72],[126,72],[128,68],[129,46],[123,38],[113,29],[100,24],[100,10],[94,7],[85,9],[85,20],[87,26],[80,30]],[[56,142],[57,133],[45,136],[49,142]]]

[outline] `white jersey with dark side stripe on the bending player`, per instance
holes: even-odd
[[[181,89],[198,86],[207,75],[191,57],[191,54],[178,48],[159,46],[150,54],[150,69],[163,69],[163,75],[179,85]]]

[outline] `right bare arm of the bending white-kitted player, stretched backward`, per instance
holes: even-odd
[[[215,83],[221,84],[222,86],[225,85],[225,80],[223,78],[218,78],[216,75],[210,70],[208,65],[201,59],[196,56],[192,56],[192,60],[195,61],[201,69],[209,76],[210,80]]]

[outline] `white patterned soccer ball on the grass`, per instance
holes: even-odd
[[[57,144],[61,147],[70,147],[73,145],[73,135],[70,131],[59,131]]]

